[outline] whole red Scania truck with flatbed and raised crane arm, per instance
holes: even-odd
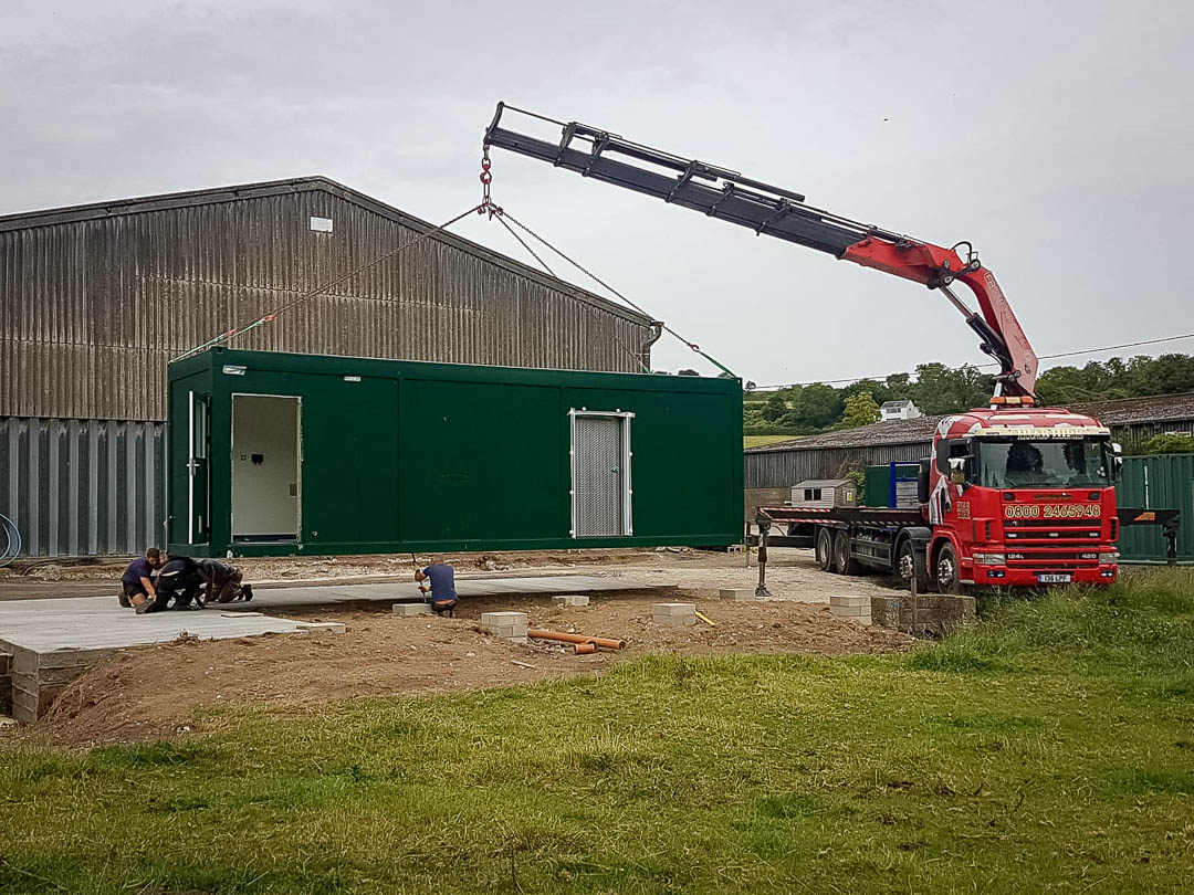
[[[503,125],[506,112],[558,125],[560,136],[544,140],[511,130]],[[1036,354],[995,276],[968,242],[935,246],[813,208],[800,193],[736,171],[501,103],[485,132],[486,152],[490,147],[936,289],[979,335],[981,350],[998,362],[990,407],[947,416],[937,425],[933,456],[921,463],[918,510],[761,510],[762,593],[767,543],[777,523],[788,526],[787,536],[771,543],[814,547],[823,569],[845,575],[888,572],[910,585],[915,580],[919,591],[930,585],[959,592],[975,585],[1115,580],[1119,445],[1089,416],[1039,406]],[[953,290],[959,282],[974,294],[979,311]],[[1125,523],[1140,512],[1125,511]],[[1162,520],[1153,513],[1141,521]]]

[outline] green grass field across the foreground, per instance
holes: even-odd
[[[318,673],[318,669],[313,669]],[[1182,891],[1194,576],[996,606],[912,654],[223,708],[0,753],[0,891]]]

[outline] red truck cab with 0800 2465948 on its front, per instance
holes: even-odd
[[[937,590],[1115,580],[1119,448],[1108,428],[997,403],[944,418],[933,445],[921,490]]]

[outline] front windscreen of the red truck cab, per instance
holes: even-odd
[[[978,484],[987,488],[1077,488],[1110,484],[1106,440],[993,438],[974,442]]]

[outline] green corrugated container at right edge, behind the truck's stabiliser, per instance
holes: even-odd
[[[1194,453],[1125,457],[1115,500],[1120,506],[1180,510],[1177,561],[1194,562]],[[1165,562],[1167,550],[1157,525],[1130,525],[1120,532],[1122,562]]]

